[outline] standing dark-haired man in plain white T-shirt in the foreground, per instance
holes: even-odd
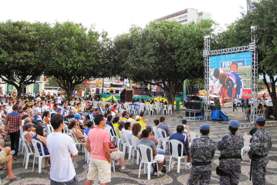
[[[78,179],[73,166],[78,150],[70,136],[62,133],[63,116],[55,114],[51,117],[54,132],[47,137],[47,148],[51,157],[51,185],[78,185]]]

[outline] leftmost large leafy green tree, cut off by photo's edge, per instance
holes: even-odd
[[[20,96],[24,85],[35,83],[49,58],[50,30],[48,23],[0,23],[1,84],[12,84]]]

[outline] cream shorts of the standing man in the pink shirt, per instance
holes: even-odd
[[[99,176],[100,183],[111,182],[111,164],[108,161],[90,158],[88,180],[96,180]]]

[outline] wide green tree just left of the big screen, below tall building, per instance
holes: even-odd
[[[212,32],[212,24],[154,21],[144,29],[133,26],[114,40],[120,76],[160,86],[173,104],[185,79],[203,78],[204,36]]]

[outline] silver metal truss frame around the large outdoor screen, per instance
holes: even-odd
[[[209,99],[209,64],[210,64],[210,56],[217,56],[223,54],[231,54],[231,53],[242,53],[251,51],[251,98],[254,100],[254,103],[251,103],[251,123],[255,121],[255,108],[258,106],[258,52],[257,52],[257,35],[254,35],[255,27],[251,26],[251,43],[247,46],[240,46],[240,47],[232,47],[232,48],[225,48],[225,49],[217,49],[217,50],[210,50],[211,49],[211,36],[204,37],[204,50],[203,50],[203,57],[204,57],[204,71],[205,71],[205,92],[207,100]],[[210,110],[204,103],[204,110],[205,115],[209,118],[210,117]]]

